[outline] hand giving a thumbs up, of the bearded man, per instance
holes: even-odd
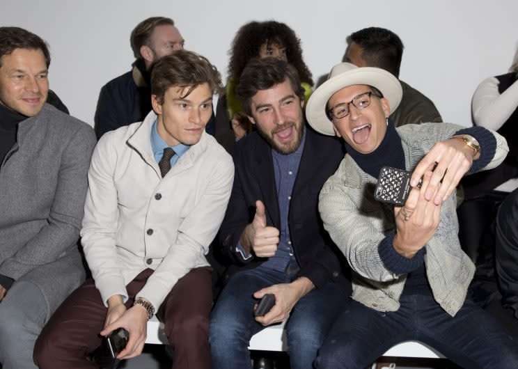
[[[262,201],[256,201],[256,214],[241,235],[241,244],[246,251],[260,258],[274,256],[277,251],[279,231],[275,227],[266,225],[265,205]]]

